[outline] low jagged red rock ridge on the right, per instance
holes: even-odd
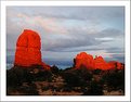
[[[80,68],[81,66],[87,67],[88,69],[122,69],[123,65],[117,61],[106,62],[102,56],[95,56],[93,59],[92,55],[87,54],[86,52],[80,52],[77,54],[76,59],[74,59],[75,68]]]

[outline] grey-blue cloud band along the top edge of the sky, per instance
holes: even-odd
[[[125,13],[123,7],[18,7],[14,9],[31,16],[42,15],[67,20],[120,18]]]

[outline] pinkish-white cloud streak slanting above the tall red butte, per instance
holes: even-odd
[[[42,16],[28,16],[26,14],[17,14],[25,26],[38,26],[42,27],[48,33],[58,33],[58,34],[66,34],[67,30],[64,28],[53,17],[42,17]]]

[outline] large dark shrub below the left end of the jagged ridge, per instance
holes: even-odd
[[[68,87],[86,87],[87,82],[91,81],[92,74],[84,67],[80,69],[66,69],[62,77]]]

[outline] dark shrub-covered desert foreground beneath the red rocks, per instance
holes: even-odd
[[[112,91],[125,94],[125,69],[60,69],[54,65],[47,71],[32,65],[6,71],[8,95],[105,95]]]

